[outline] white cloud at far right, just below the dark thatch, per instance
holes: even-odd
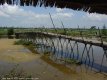
[[[102,21],[107,20],[107,15],[97,14],[97,13],[87,13],[84,18],[93,20],[93,21]]]

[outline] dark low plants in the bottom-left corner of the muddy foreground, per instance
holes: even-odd
[[[18,69],[18,65],[14,66],[8,73],[0,75],[0,80],[32,80],[31,75],[28,75],[23,69]]]

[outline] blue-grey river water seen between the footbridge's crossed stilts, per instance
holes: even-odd
[[[37,39],[36,45],[39,45],[38,51],[43,53],[49,51],[54,54],[57,59],[73,58],[94,70],[107,72],[107,54],[98,46],[85,45],[83,43],[75,43],[68,39],[44,38]]]

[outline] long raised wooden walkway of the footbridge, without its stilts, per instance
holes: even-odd
[[[23,33],[15,33],[17,38],[25,37],[25,35],[31,38],[35,37],[35,35],[44,36],[44,37],[53,37],[53,38],[60,38],[60,39],[68,39],[72,41],[76,41],[83,44],[89,44],[94,46],[102,47],[103,49],[107,49],[107,42],[102,42],[98,40],[92,40],[92,39],[86,39],[86,38],[78,38],[78,37],[71,37],[67,35],[61,35],[61,34],[54,34],[54,33],[47,33],[47,32],[23,32]]]

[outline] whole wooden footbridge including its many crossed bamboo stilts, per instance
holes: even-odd
[[[57,59],[76,59],[91,69],[107,72],[107,43],[48,32],[17,32],[16,38],[43,45]],[[43,48],[45,50],[43,50]]]

